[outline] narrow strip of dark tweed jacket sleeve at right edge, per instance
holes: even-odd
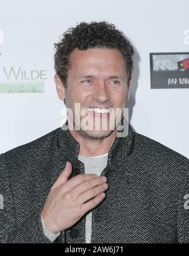
[[[178,202],[177,236],[178,243],[189,243],[189,168]]]

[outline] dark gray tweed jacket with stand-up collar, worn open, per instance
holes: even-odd
[[[0,155],[0,243],[50,243],[40,211],[66,161],[72,176],[84,173],[78,152],[69,130],[58,128]],[[109,188],[93,210],[91,243],[189,243],[188,163],[131,128],[117,137],[102,173]],[[85,243],[85,217],[55,243]]]

